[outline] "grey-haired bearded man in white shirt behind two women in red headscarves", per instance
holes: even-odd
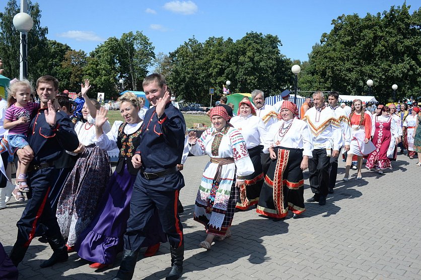
[[[262,119],[266,129],[269,131],[270,126],[278,121],[277,112],[272,106],[264,104],[264,93],[261,90],[253,90],[251,92],[251,99],[256,107],[256,116]],[[260,143],[260,145],[263,145],[263,143]],[[263,175],[266,175],[270,161],[269,153],[265,154],[262,152],[260,154]]]

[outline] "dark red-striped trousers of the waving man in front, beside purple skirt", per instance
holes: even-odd
[[[184,244],[183,226],[178,216],[178,194],[179,190],[158,191],[145,188],[136,179],[130,200],[127,231],[124,234],[125,250],[138,251],[148,243],[146,241],[149,230],[147,227],[154,224],[150,220],[153,219],[155,208],[158,209],[162,229],[171,246],[178,248]]]

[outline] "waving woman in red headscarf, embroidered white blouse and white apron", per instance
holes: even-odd
[[[238,188],[246,176],[254,172],[240,131],[228,120],[227,111],[217,106],[210,111],[213,127],[206,129],[200,138],[196,132],[188,135],[190,152],[195,156],[208,155],[211,161],[203,171],[196,196],[194,220],[203,224],[207,237],[199,246],[210,249],[217,236],[224,240],[231,236],[229,227],[234,218]]]

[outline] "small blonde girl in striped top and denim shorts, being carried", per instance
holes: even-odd
[[[30,102],[33,88],[28,80],[16,81],[8,88],[8,108],[5,114],[4,128],[9,129],[9,145],[13,150],[24,149],[30,155],[34,155],[28,144],[28,129],[31,123],[31,116],[34,111],[40,108],[39,103]],[[26,173],[29,163],[26,165],[18,162],[16,172],[16,188],[12,192],[16,200],[24,201],[22,192],[28,192],[29,186],[26,183]]]

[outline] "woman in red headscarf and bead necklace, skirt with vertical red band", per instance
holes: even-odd
[[[303,170],[313,156],[313,142],[307,123],[296,117],[297,106],[284,101],[278,115],[280,121],[272,125],[264,142],[272,161],[264,178],[257,213],[275,221],[285,218],[288,209],[294,218],[306,211]]]

